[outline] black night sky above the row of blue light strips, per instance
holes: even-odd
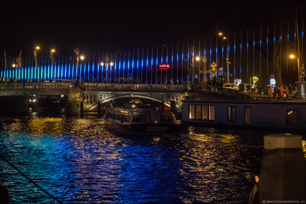
[[[147,48],[305,17],[305,1],[1,1],[1,56]],[[301,29],[301,28],[300,28]]]

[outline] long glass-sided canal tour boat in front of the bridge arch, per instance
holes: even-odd
[[[121,107],[105,110],[104,124],[129,133],[178,133],[180,124],[172,112]]]

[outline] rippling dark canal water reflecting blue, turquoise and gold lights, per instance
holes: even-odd
[[[98,117],[53,114],[1,117],[1,180],[12,203],[247,203],[263,136],[273,134],[190,126],[128,135]]]

